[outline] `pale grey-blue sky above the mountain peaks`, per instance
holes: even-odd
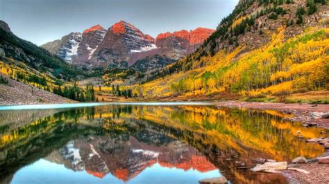
[[[124,20],[144,34],[215,29],[239,0],[0,0],[0,19],[12,33],[42,45],[96,24]]]

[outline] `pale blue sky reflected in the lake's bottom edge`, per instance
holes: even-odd
[[[183,169],[161,167],[158,163],[148,167],[135,178],[127,183],[198,183],[203,178],[221,176],[218,169],[201,173],[194,169],[184,171]],[[11,183],[124,183],[112,174],[104,178],[97,178],[87,172],[74,172],[64,165],[51,163],[40,159],[32,165],[19,169],[12,178]]]

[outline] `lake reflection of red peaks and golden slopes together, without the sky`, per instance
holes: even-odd
[[[231,181],[280,181],[276,175],[237,170],[228,161],[248,165],[255,157],[289,160],[323,152],[296,135],[299,130],[305,138],[315,137],[321,129],[280,116],[214,107],[109,106],[45,113],[31,122],[0,120],[0,175],[8,180],[17,169],[47,157],[76,171],[98,177],[111,173],[123,181],[154,163],[200,172],[215,166]]]

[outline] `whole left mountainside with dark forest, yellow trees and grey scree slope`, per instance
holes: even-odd
[[[0,104],[73,102],[50,91],[78,75],[83,73],[0,21]]]

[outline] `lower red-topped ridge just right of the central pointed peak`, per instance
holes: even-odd
[[[135,69],[142,68],[142,71],[162,68],[196,51],[213,32],[214,30],[208,28],[196,28],[160,33],[155,38],[156,49],[133,53],[128,64]]]

